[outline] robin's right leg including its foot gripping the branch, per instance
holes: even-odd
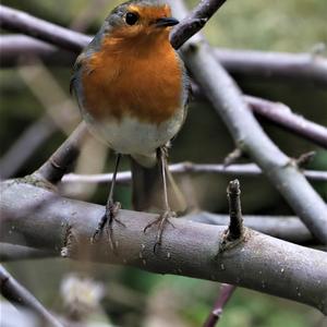
[[[156,237],[156,243],[154,246],[154,252],[156,252],[157,246],[161,245],[162,233],[166,227],[166,223],[170,223],[169,218],[174,218],[177,215],[174,211],[170,209],[169,201],[168,201],[168,189],[167,189],[167,174],[166,169],[168,169],[167,165],[167,147],[162,146],[158,149],[159,158],[160,158],[160,168],[162,174],[162,183],[164,183],[164,213],[153,222],[148,223],[144,228],[144,232],[154,225],[158,225],[158,232]],[[173,226],[173,225],[172,225]]]

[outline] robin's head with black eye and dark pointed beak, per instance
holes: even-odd
[[[116,38],[133,39],[169,34],[178,20],[170,7],[158,0],[133,0],[117,7],[106,19],[107,31]]]

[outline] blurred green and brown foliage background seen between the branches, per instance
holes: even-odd
[[[187,1],[192,7],[197,1]],[[50,22],[71,26],[87,34],[96,33],[107,13],[119,2],[105,0],[2,0],[3,4],[24,10]],[[327,43],[326,0],[229,0],[205,27],[204,34],[217,47],[265,51],[310,52]],[[0,146],[4,155],[40,119],[51,117],[61,129],[53,133],[13,177],[32,173],[63,142],[77,124],[78,109],[69,95],[71,69],[33,65],[2,69],[0,78]],[[244,78],[235,76],[246,94],[282,101],[293,111],[327,124],[327,92],[316,85]],[[221,162],[233,143],[215,111],[205,102],[193,102],[187,121],[173,143],[170,161]],[[291,157],[316,150],[311,169],[327,169],[327,154],[319,147],[262,122],[269,136]],[[87,141],[75,171],[98,173],[112,170],[112,154],[94,140]],[[129,169],[124,159],[121,170]],[[229,178],[192,177],[193,205],[227,213],[226,186]],[[240,178],[245,214],[290,214],[288,205],[265,178]],[[181,181],[183,182],[183,181]],[[183,187],[185,183],[182,183]],[[190,181],[185,187],[190,186]],[[327,198],[327,186],[315,183]],[[61,192],[104,204],[108,185],[63,185]],[[190,190],[185,190],[185,192]],[[130,207],[131,190],[119,186],[117,199]],[[274,250],[271,250],[274,251]],[[120,326],[201,326],[216,299],[217,283],[174,276],[157,276],[123,267],[85,265],[62,259],[26,261],[7,265],[46,306],[65,314],[59,288],[70,271],[94,278],[105,290],[101,310]],[[289,301],[239,289],[230,301],[220,326],[326,326],[313,308]]]

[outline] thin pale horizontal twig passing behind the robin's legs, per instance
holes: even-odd
[[[241,164],[225,167],[225,165],[210,164],[193,164],[180,162],[169,166],[169,170],[174,174],[185,173],[220,173],[226,175],[246,175],[259,177],[263,174],[262,170],[255,164]],[[312,181],[327,182],[327,171],[319,170],[304,170],[304,175]],[[131,171],[121,171],[117,174],[117,182],[121,184],[129,184],[132,179]],[[62,183],[108,183],[112,180],[112,173],[99,174],[76,174],[68,173],[62,178]]]

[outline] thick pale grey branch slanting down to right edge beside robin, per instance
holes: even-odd
[[[180,0],[173,1],[173,5],[181,3]],[[186,13],[180,10],[174,14],[184,16]],[[234,81],[216,61],[210,47],[196,38],[184,47],[183,56],[193,76],[225,121],[237,146],[253,158],[311,232],[323,244],[327,244],[326,204],[293,160],[265,134]]]

